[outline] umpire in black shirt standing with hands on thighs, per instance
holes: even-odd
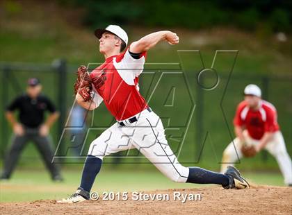
[[[6,118],[13,126],[13,143],[4,161],[1,179],[10,178],[17,164],[20,153],[28,141],[33,141],[40,151],[42,159],[51,173],[52,180],[61,181],[63,178],[56,164],[51,163],[54,150],[49,138],[49,128],[58,119],[59,113],[53,103],[41,94],[42,85],[37,78],[28,80],[26,94],[18,96],[7,107]],[[18,121],[13,112],[19,111]],[[44,121],[44,112],[49,111],[47,120]]]

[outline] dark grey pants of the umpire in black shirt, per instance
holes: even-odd
[[[13,142],[10,146],[10,149],[8,150],[8,153],[6,154],[4,161],[3,176],[10,178],[10,175],[13,173],[13,170],[15,169],[19,159],[19,155],[28,141],[33,141],[35,146],[38,148],[38,151],[42,155],[42,160],[44,160],[44,164],[51,173],[51,178],[59,175],[58,166],[56,166],[54,163],[51,163],[51,160],[54,156],[54,150],[49,137],[43,137],[39,135],[38,128],[24,128],[24,130],[25,132],[22,136],[13,135]]]

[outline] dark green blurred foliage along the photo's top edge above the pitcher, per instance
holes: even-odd
[[[94,1],[59,0],[67,6],[85,10],[83,23],[88,26],[106,24],[138,24],[140,26],[181,26],[209,28],[234,26],[253,31],[266,26],[269,31],[291,32],[292,1],[284,0],[148,0]]]

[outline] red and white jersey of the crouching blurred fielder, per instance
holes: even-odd
[[[245,101],[239,103],[234,117],[234,126],[243,126],[253,139],[261,139],[264,132],[279,130],[277,110],[271,103],[261,100],[259,110],[252,110]]]

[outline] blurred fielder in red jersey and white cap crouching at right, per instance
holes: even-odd
[[[285,184],[291,186],[291,158],[287,153],[282,132],[279,130],[276,108],[261,99],[261,89],[257,85],[246,86],[244,95],[245,99],[239,103],[234,117],[236,139],[224,150],[221,172],[227,169],[227,165],[243,157],[241,153],[243,144],[252,145],[257,153],[266,149],[275,157]]]

